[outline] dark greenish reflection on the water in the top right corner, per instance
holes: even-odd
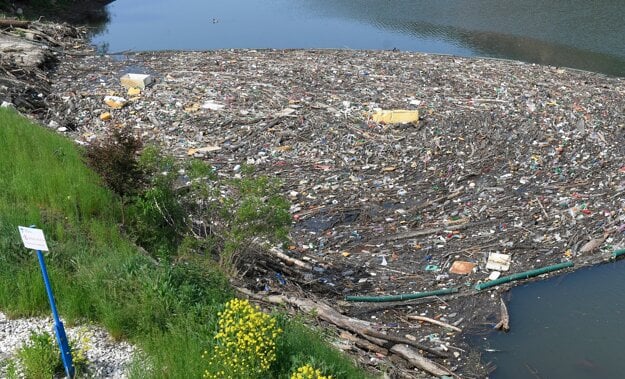
[[[473,55],[625,76],[625,2],[305,0],[326,15],[438,38]]]

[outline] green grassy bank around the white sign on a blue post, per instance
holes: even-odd
[[[0,109],[0,310],[48,315],[36,256],[18,225],[44,230],[46,263],[66,324],[92,321],[145,354],[136,378],[200,378],[217,312],[233,297],[227,277],[207,257],[176,264],[140,253],[120,232],[121,201],[84,164],[71,141]],[[319,333],[283,321],[273,377],[314,362],[335,378],[365,373]],[[147,364],[147,366],[146,366]]]

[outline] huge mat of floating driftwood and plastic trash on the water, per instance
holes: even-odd
[[[129,72],[154,83],[129,95],[119,82]],[[219,175],[236,176],[247,164],[280,178],[294,219],[282,253],[309,269],[259,253],[242,278],[248,288],[322,299],[380,331],[440,348],[448,357],[436,361],[461,377],[487,375],[465,336],[490,330],[500,297],[524,282],[477,291],[495,271],[486,268],[492,253],[510,257],[505,276],[597,264],[625,245],[622,79],[352,50],[65,55],[49,79],[46,110],[35,117],[80,144],[127,126],[180,159],[206,160]],[[108,95],[128,104],[111,109]],[[418,111],[419,120],[372,121],[380,109]],[[454,262],[472,269],[450,272]],[[344,301],[445,288],[459,292]],[[339,340],[363,364],[420,375]]]

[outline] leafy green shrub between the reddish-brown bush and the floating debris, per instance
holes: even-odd
[[[280,183],[254,176],[251,166],[242,170],[244,177],[225,180],[202,161],[181,165],[155,147],[141,153],[139,165],[149,175],[150,188],[129,205],[129,226],[136,241],[154,255],[217,252],[221,265],[235,271],[252,240],[282,242],[288,235],[290,204],[280,196]],[[217,233],[194,230],[191,219]]]

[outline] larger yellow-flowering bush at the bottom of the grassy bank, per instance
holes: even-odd
[[[266,373],[276,360],[276,319],[247,300],[233,299],[219,313],[215,348],[204,352],[211,370],[205,379],[252,378]]]

